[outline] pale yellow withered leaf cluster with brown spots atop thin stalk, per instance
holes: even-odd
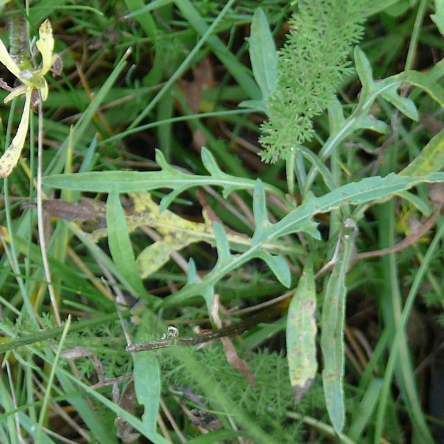
[[[57,56],[54,55],[54,39],[53,39],[53,29],[49,19],[46,19],[39,28],[39,40],[36,42],[37,49],[42,55],[42,66],[34,71],[29,71],[27,69],[21,70],[17,63],[12,60],[9,55],[6,46],[0,40],[0,62],[8,68],[12,74],[14,74],[21,82],[22,85],[16,88],[10,88],[6,85],[3,80],[0,82],[0,87],[8,89],[10,94],[6,96],[4,103],[8,103],[17,96],[25,95],[25,105],[23,108],[22,120],[19,123],[19,128],[17,129],[17,134],[8,149],[0,158],[0,178],[6,178],[10,175],[12,169],[19,161],[20,153],[22,153],[22,148],[25,144],[26,135],[28,133],[29,126],[29,113],[31,110],[31,98],[33,92],[40,91],[42,100],[46,100],[48,97],[48,83],[44,76],[53,66],[56,61]]]

